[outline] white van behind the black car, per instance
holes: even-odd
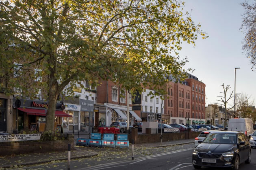
[[[228,121],[228,131],[243,132],[245,136],[249,136],[254,132],[252,119],[234,118]]]

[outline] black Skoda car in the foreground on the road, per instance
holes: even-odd
[[[230,167],[238,170],[243,161],[251,162],[251,147],[242,132],[212,132],[198,143],[192,154],[194,168]]]

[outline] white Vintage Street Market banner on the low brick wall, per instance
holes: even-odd
[[[40,140],[41,134],[12,134],[0,135],[0,142],[13,142],[22,140]]]

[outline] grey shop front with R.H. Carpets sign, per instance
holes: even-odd
[[[93,130],[93,109],[94,101],[80,99],[80,131],[92,131]]]

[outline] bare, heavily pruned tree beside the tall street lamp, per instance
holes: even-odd
[[[228,90],[231,88],[230,85],[226,85],[226,87],[225,87],[225,85],[223,83],[221,86],[223,88],[223,92],[220,92],[220,93],[223,94],[223,96],[218,96],[218,97],[221,98],[221,100],[217,100],[217,101],[221,102],[220,105],[224,106],[224,108],[225,108],[225,123],[224,123],[224,126],[226,127],[226,124],[227,124],[227,110],[230,110],[231,108],[234,107],[233,106],[233,107],[227,108],[227,104],[228,104],[228,100],[230,100],[231,98],[234,97],[234,96],[232,96],[234,91],[232,91],[230,93],[229,97],[228,97],[227,93],[228,93]]]

